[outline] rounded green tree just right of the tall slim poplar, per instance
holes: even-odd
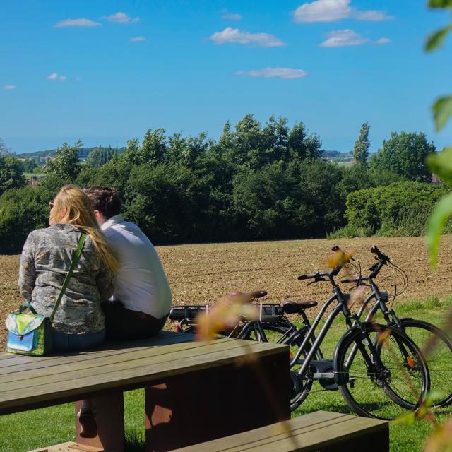
[[[381,149],[372,155],[370,167],[375,171],[386,169],[408,180],[430,182],[432,172],[425,164],[425,158],[435,150],[434,143],[427,141],[425,133],[391,132],[391,138],[383,141]]]

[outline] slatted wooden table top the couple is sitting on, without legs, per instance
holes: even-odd
[[[30,357],[0,355],[0,415],[58,405],[107,391],[126,391],[201,369],[233,364],[249,353],[287,353],[287,346],[249,340],[194,342],[184,333],[105,343],[90,352]]]

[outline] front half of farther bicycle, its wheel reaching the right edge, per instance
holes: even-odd
[[[337,251],[338,246],[333,246],[333,251]],[[391,259],[383,254],[375,245],[371,246],[371,253],[375,254],[376,263],[369,268],[371,272],[367,276],[361,275],[359,265],[359,276],[356,278],[346,278],[343,283],[355,283],[357,287],[368,285],[371,293],[364,299],[362,306],[357,312],[357,316],[362,318],[366,307],[372,299],[374,304],[369,309],[364,321],[374,319],[377,312],[381,311],[386,324],[398,329],[404,335],[411,338],[420,350],[425,351],[427,367],[429,368],[432,391],[444,393],[444,396],[432,403],[432,407],[444,407],[452,403],[452,340],[448,335],[432,323],[423,320],[412,319],[410,317],[399,318],[393,307],[388,308],[389,294],[381,291],[375,283],[375,278],[379,275],[383,266],[391,266],[403,277],[404,288],[393,295],[393,302],[398,295],[403,293],[408,285],[406,273],[391,262]],[[368,284],[367,284],[368,283]]]

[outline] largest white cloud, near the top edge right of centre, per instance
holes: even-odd
[[[335,22],[342,19],[380,21],[393,19],[383,11],[359,11],[350,6],[351,0],[315,0],[304,3],[294,12],[295,22]]]

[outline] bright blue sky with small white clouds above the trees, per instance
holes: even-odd
[[[148,128],[216,138],[225,121],[303,121],[323,147],[371,150],[425,131],[451,92],[447,23],[422,0],[0,0],[0,137],[21,153],[82,138],[125,145]]]

